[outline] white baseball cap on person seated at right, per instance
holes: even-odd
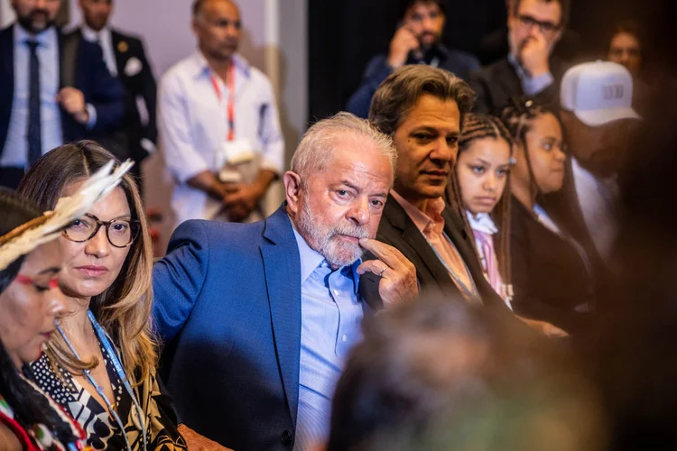
[[[620,119],[640,119],[632,107],[633,78],[615,62],[586,62],[561,80],[561,107],[591,127]]]

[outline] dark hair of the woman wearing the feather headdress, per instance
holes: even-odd
[[[18,226],[42,216],[41,210],[31,202],[19,197],[14,191],[0,189],[0,236],[13,231]],[[2,246],[0,242],[0,246]],[[14,260],[7,268],[0,271],[0,293],[14,281],[21,269],[23,257]],[[0,308],[3,306],[0,305]],[[12,358],[0,342],[0,394],[7,400],[15,419],[29,429],[33,425],[43,424],[49,428],[63,444],[78,440],[73,430],[60,416],[52,410],[47,398],[32,388],[19,374]]]

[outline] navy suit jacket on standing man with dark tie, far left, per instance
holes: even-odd
[[[14,102],[14,26],[10,25],[0,31],[0,152],[3,152],[9,119]],[[64,86],[64,41],[67,39],[59,31],[60,47],[60,87]],[[122,124],[124,115],[125,90],[120,82],[110,75],[103,59],[101,48],[92,42],[79,40],[75,59],[74,87],[85,96],[85,101],[97,110],[97,124],[92,130],[78,124],[71,115],[61,111],[61,128],[63,141],[77,141],[88,137],[90,133],[103,133]],[[28,68],[24,69],[28,76]]]

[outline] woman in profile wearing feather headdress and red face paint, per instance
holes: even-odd
[[[0,450],[89,449],[87,434],[23,370],[42,354],[66,312],[57,280],[60,231],[116,187],[129,166],[108,164],[51,211],[0,189]]]

